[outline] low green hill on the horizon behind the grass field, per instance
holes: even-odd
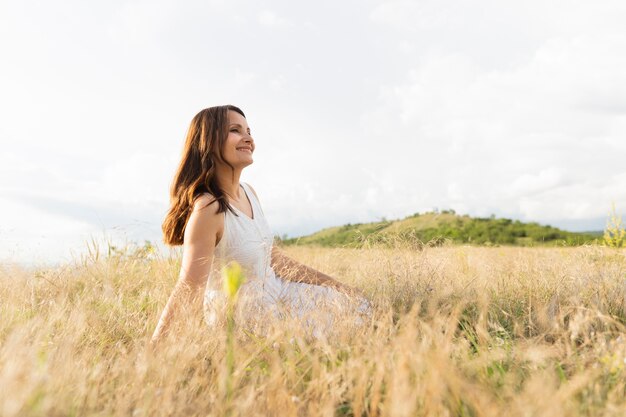
[[[601,234],[601,233],[600,233]],[[454,211],[415,213],[401,220],[346,224],[330,227],[311,235],[282,240],[285,245],[361,247],[364,244],[437,245],[446,240],[474,245],[581,245],[592,243],[598,233],[567,232],[538,223],[519,220],[460,216]]]

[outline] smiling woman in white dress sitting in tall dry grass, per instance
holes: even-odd
[[[164,241],[183,246],[182,265],[153,344],[181,310],[198,306],[202,295],[207,323],[222,320],[226,300],[220,270],[232,260],[242,265],[247,278],[238,297],[237,319],[249,328],[259,329],[270,318],[285,315],[306,320],[320,305],[347,305],[350,296],[357,296],[361,312],[369,313],[369,303],[357,290],[272,246],[256,191],[239,183],[255,148],[246,117],[235,106],[204,109],[191,121],[163,222]],[[320,319],[325,323],[309,322],[316,335],[332,325],[332,317],[325,317]]]

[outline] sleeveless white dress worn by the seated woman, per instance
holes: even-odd
[[[216,326],[225,318],[221,270],[233,260],[246,276],[237,298],[236,321],[255,333],[264,333],[268,320],[293,317],[301,319],[314,337],[320,337],[328,334],[338,312],[354,313],[356,322],[362,323],[363,316],[371,314],[367,300],[354,300],[329,287],[283,280],[276,275],[271,266],[272,231],[254,192],[246,183],[241,186],[252,206],[252,217],[234,206],[238,216],[230,210],[224,212],[224,233],[215,247],[204,295],[207,324]]]

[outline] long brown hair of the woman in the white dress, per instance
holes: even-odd
[[[210,193],[218,202],[218,213],[228,209],[237,215],[219,186],[215,168],[219,161],[233,168],[233,175],[235,173],[232,164],[222,157],[222,149],[228,137],[229,110],[246,117],[238,107],[226,105],[204,109],[191,120],[182,160],[170,187],[170,209],[161,226],[163,241],[168,245],[183,244],[185,226],[194,203],[204,193]]]

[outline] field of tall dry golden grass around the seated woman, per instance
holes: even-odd
[[[178,259],[3,266],[0,415],[626,415],[624,249],[285,251],[361,288],[373,318],[327,340],[237,333],[232,372],[200,315],[146,350]]]

